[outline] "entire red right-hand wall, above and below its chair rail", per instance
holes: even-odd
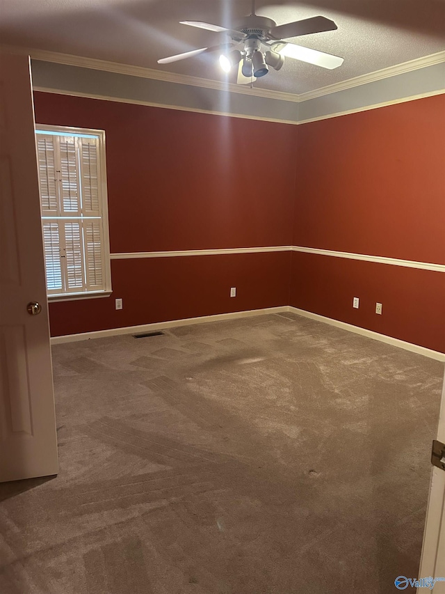
[[[299,126],[293,244],[445,264],[444,139],[445,95]],[[445,352],[440,272],[293,253],[291,305]]]

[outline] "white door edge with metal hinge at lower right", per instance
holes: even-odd
[[[445,444],[445,377],[437,440]],[[443,462],[445,463],[445,456]],[[431,474],[430,499],[426,513],[419,572],[419,578],[427,577],[442,578],[443,581],[435,583],[433,592],[434,594],[445,594],[445,469],[442,470],[434,466]],[[418,591],[422,590],[419,588]]]

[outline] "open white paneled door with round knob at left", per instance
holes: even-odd
[[[0,54],[0,481],[57,471],[31,71]]]

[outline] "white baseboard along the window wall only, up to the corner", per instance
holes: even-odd
[[[282,313],[289,311],[289,306],[268,307],[265,309],[251,309],[248,311],[234,311],[232,313],[217,313],[215,315],[202,315],[200,318],[183,318],[182,320],[170,320],[168,322],[154,322],[153,324],[143,324],[140,326],[126,326],[123,328],[111,328],[109,330],[97,330],[95,332],[83,332],[82,334],[67,334],[65,336],[54,336],[51,338],[51,345],[60,345],[61,343],[75,343],[77,341],[88,341],[90,338],[106,338],[108,336],[118,336],[120,334],[142,334],[143,332],[152,332],[173,328],[177,326],[189,326],[191,324],[205,324],[207,322],[221,322],[223,320],[236,320],[237,318],[249,318],[252,315],[261,315],[264,313]]]

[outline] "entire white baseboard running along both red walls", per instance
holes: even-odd
[[[399,347],[417,354],[423,354],[424,357],[430,357],[430,359],[436,359],[437,361],[445,362],[445,354],[439,351],[414,345],[401,341],[399,338],[392,338],[385,334],[379,334],[366,328],[360,328],[359,326],[353,326],[346,322],[340,322],[332,318],[326,318],[324,315],[318,313],[312,313],[311,311],[305,311],[304,309],[298,309],[297,307],[282,305],[279,307],[267,307],[264,309],[251,309],[248,311],[234,311],[232,313],[217,313],[215,315],[202,315],[200,318],[184,318],[182,320],[170,320],[168,322],[154,322],[153,324],[143,324],[140,326],[126,326],[123,328],[111,328],[109,330],[98,330],[95,332],[84,332],[83,334],[67,334],[65,336],[54,336],[51,338],[51,345],[60,345],[62,343],[74,343],[77,341],[88,341],[91,338],[106,338],[108,336],[119,336],[120,334],[140,334],[143,332],[152,332],[156,330],[163,330],[167,328],[174,328],[178,326],[188,326],[192,324],[205,324],[207,322],[221,322],[223,320],[236,320],[238,318],[249,318],[252,315],[264,315],[267,313],[296,313],[302,315],[304,318],[310,318],[317,322],[324,322],[331,326],[336,326],[343,330],[366,336],[367,338],[373,338],[375,341],[381,343],[387,343],[394,347]]]

